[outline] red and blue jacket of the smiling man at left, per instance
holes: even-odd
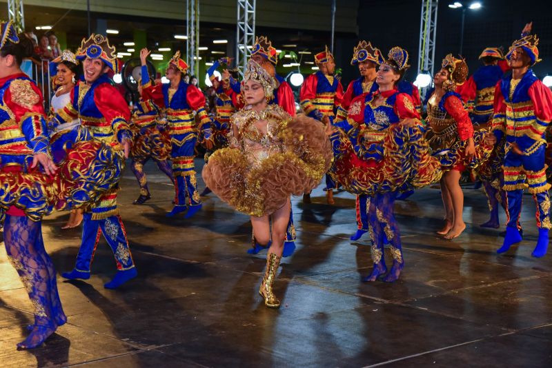
[[[50,128],[72,119],[81,119],[93,139],[104,142],[116,150],[122,150],[123,139],[130,139],[130,110],[121,93],[111,85],[111,80],[102,74],[90,85],[79,81],[71,92],[71,102],[57,110]]]

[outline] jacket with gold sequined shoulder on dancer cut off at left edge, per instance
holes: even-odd
[[[0,79],[0,103],[0,170],[26,171],[30,156],[49,149],[41,92],[26,74],[13,74]]]

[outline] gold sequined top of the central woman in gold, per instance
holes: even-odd
[[[230,132],[233,147],[242,150],[251,165],[257,166],[272,154],[284,152],[280,134],[286,128],[290,115],[279,105],[268,105],[261,112],[240,110],[230,119],[231,125],[237,128]]]

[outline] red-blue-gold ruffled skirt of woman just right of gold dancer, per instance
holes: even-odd
[[[328,174],[347,192],[368,196],[404,192],[440,180],[440,162],[431,156],[420,127],[393,124],[380,144],[381,159],[360,159],[351,142],[342,139]]]

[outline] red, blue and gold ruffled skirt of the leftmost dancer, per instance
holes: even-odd
[[[54,209],[88,207],[117,185],[124,170],[124,154],[99,141],[75,143],[79,136],[86,137],[86,131],[52,136],[52,156],[58,165],[53,176],[28,166],[15,170],[8,166],[0,171],[1,218],[6,209],[15,206],[32,221],[39,221]]]

